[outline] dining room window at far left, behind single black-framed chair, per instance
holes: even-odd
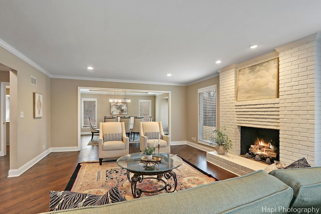
[[[82,98],[82,112],[81,124],[83,128],[89,128],[90,124],[88,117],[90,117],[93,127],[97,127],[97,99],[95,98]]]

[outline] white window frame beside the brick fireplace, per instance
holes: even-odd
[[[207,135],[206,137],[204,136],[204,126],[203,126],[203,117],[204,117],[204,109],[200,109],[202,103],[200,103],[200,95],[202,95],[202,93],[204,92],[209,92],[209,91],[215,91],[215,103],[214,103],[214,123],[212,128],[209,128],[209,131],[207,131]],[[200,88],[198,89],[198,142],[204,145],[210,145],[210,139],[209,137],[211,135],[213,135],[213,131],[216,130],[216,126],[217,126],[217,86],[216,85],[212,85],[209,87],[205,87],[205,88]],[[202,106],[203,107],[203,106]],[[203,128],[202,128],[203,127]],[[201,135],[201,132],[203,131],[203,134]],[[205,139],[204,139],[205,138]]]

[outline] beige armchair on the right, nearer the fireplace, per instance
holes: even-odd
[[[156,152],[158,152],[158,133],[160,133],[159,152],[171,153],[171,136],[164,134],[162,122],[139,123],[140,151],[147,146],[154,147],[155,141]]]

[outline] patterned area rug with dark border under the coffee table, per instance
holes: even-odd
[[[180,167],[174,169],[177,174],[178,183],[176,191],[217,180],[211,175],[206,175],[194,167],[187,162],[183,162]],[[77,174],[78,168],[79,172]],[[130,175],[130,177],[131,176],[132,175]],[[126,200],[133,199],[131,183],[127,180],[126,170],[117,166],[115,161],[103,162],[102,165],[99,165],[99,162],[79,163],[73,177],[69,181],[70,183],[66,187],[66,190],[103,195],[110,188],[118,186],[120,194],[123,195]],[[163,177],[163,179],[166,178]],[[173,178],[170,178],[168,182],[173,183],[172,186],[174,186]],[[143,179],[141,183],[137,183],[138,188],[148,191],[160,189],[162,186],[164,186],[163,182],[148,178]],[[166,190],[163,190],[156,193],[142,193],[141,197],[162,193],[167,192]]]

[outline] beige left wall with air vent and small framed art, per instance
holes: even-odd
[[[10,169],[18,169],[50,147],[50,78],[2,47],[0,63],[17,71],[10,74]],[[30,75],[37,78],[37,86],[30,84]],[[43,95],[44,115],[39,119],[33,118],[33,92]]]

